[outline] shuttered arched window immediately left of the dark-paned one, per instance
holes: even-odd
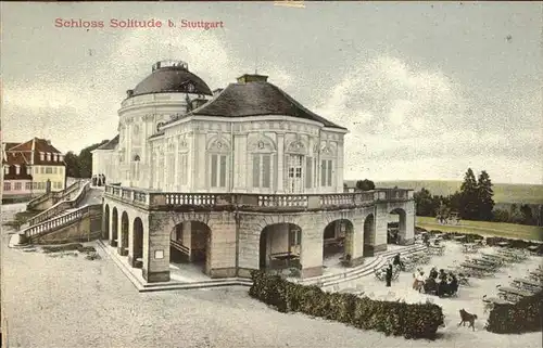
[[[252,186],[272,189],[274,178],[274,158],[276,146],[272,139],[261,136],[249,143],[252,155]]]

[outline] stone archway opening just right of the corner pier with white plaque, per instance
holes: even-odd
[[[178,223],[169,234],[172,263],[190,263],[205,274],[211,273],[211,228],[198,220]],[[188,268],[185,265],[185,268]]]

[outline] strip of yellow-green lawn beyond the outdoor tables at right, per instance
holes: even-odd
[[[443,232],[478,233],[503,237],[543,241],[543,228],[536,225],[462,220],[459,225],[439,224],[435,218],[417,217],[417,227]]]

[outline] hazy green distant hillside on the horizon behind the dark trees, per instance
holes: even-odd
[[[356,180],[345,180],[348,185],[352,186]],[[413,180],[413,181],[376,181],[377,188],[405,188],[419,191],[425,188],[431,194],[450,195],[460,190],[462,181],[449,180]],[[510,184],[494,183],[495,203],[523,203],[523,204],[543,204],[543,185],[538,184]]]

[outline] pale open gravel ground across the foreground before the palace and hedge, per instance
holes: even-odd
[[[4,228],[2,300],[10,348],[460,348],[541,344],[541,333],[522,335],[526,339],[520,340],[497,336],[505,339],[489,343],[488,335],[467,330],[447,333],[433,343],[386,337],[301,314],[279,313],[251,299],[247,287],[140,294],[100,248],[101,260],[89,261],[83,255],[53,258],[8,248],[8,233]]]

